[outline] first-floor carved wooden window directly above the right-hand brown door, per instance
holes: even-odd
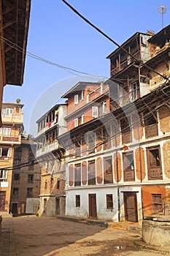
[[[123,174],[124,174],[124,181],[135,180],[133,152],[123,153]]]

